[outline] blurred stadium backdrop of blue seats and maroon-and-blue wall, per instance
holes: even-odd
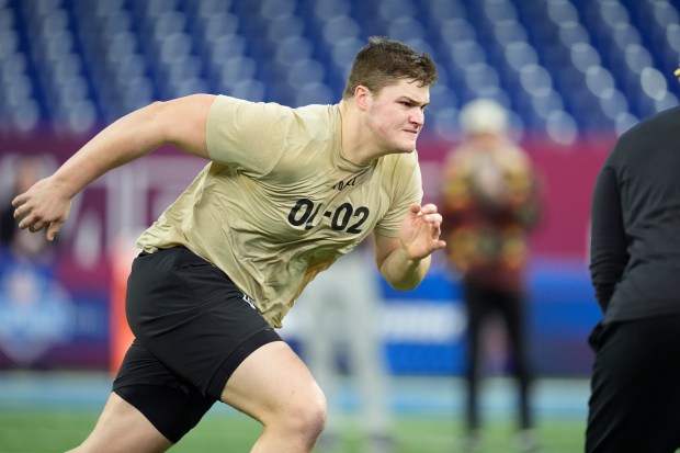
[[[546,428],[556,439],[548,451],[578,451],[592,360],[586,338],[599,318],[587,272],[590,192],[615,138],[678,104],[679,3],[0,0],[0,202],[10,203],[22,156],[39,155],[54,169],[103,125],[154,100],[213,92],[293,106],[335,103],[367,36],[404,41],[432,55],[440,70],[419,141],[426,197],[437,199],[439,165],[460,139],[461,106],[478,97],[512,112],[514,138],[543,174],[546,214],[529,274],[535,404],[540,424],[557,420],[577,438],[565,446]],[[134,237],[202,165],[167,148],[111,172],[73,203],[48,271],[31,276],[35,299],[16,299],[0,279],[0,452],[41,451],[16,442],[39,437],[22,431],[20,414],[50,426],[53,412],[63,419],[99,410],[115,363],[112,301],[124,284],[116,262],[125,265]],[[0,263],[0,272],[9,267]],[[390,403],[405,426],[417,427],[401,432],[404,445],[451,450],[465,329],[456,278],[439,260],[418,290],[385,286],[384,295]],[[293,310],[285,332],[294,346],[301,326],[304,315]],[[502,336],[491,336],[488,349],[488,367],[502,377]],[[507,390],[502,378],[491,381],[489,412],[510,415]],[[348,407],[352,395],[349,386]],[[418,438],[426,415],[442,423],[429,448]],[[56,431],[68,432],[68,423],[49,435]],[[409,432],[417,440],[409,442]]]

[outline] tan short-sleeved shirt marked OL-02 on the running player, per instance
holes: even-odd
[[[373,229],[396,237],[422,199],[418,156],[341,156],[339,105],[217,97],[211,162],[137,241],[184,246],[229,275],[273,327],[314,276]],[[348,282],[351,284],[351,282]]]

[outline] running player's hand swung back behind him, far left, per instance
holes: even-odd
[[[46,228],[47,240],[54,240],[71,206],[71,197],[64,192],[53,178],[45,178],[16,195],[12,206],[19,228],[29,228],[32,233]]]

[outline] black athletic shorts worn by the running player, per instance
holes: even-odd
[[[125,308],[135,340],[113,390],[172,442],[219,399],[248,355],[281,341],[249,296],[183,247],[134,260]]]

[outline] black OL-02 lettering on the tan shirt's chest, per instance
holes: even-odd
[[[295,203],[295,206],[288,213],[288,223],[293,226],[305,225],[305,229],[311,229],[314,219],[319,213],[321,206],[315,206],[311,200],[302,199]],[[324,216],[330,217],[330,227],[336,231],[347,230],[347,233],[361,233],[361,226],[369,218],[371,211],[366,206],[361,206],[354,211],[350,203],[342,203],[335,213],[324,213]],[[356,218],[352,222],[352,218]]]

